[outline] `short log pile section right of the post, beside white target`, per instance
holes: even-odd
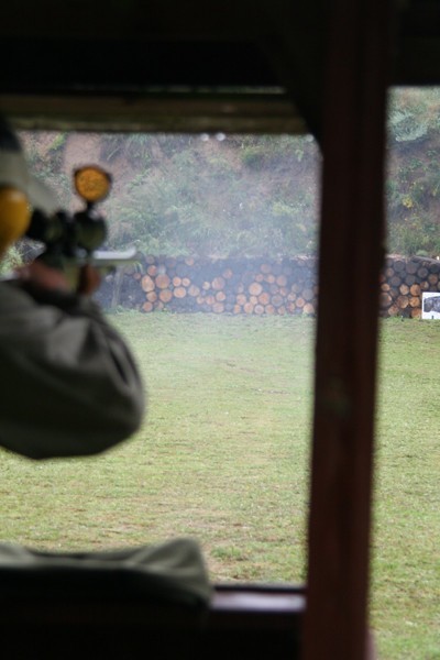
[[[440,262],[388,256],[381,275],[381,317],[419,318],[424,292],[440,292]]]

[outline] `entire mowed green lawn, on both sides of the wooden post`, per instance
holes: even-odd
[[[144,374],[144,427],[96,458],[38,463],[2,451],[1,540],[82,550],[193,536],[212,580],[302,582],[314,319],[109,318]],[[433,660],[440,323],[381,328],[372,626],[381,660]]]

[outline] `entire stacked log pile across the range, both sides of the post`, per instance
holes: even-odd
[[[349,289],[349,286],[348,286]],[[380,316],[418,318],[424,292],[440,292],[440,262],[389,255],[380,279]],[[315,315],[317,261],[144,256],[109,276],[105,308],[245,315]]]

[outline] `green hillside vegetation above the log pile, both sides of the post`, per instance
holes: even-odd
[[[389,253],[440,254],[440,91],[399,89],[388,109]],[[34,170],[72,205],[74,167],[113,176],[108,246],[202,256],[315,254],[321,155],[292,135],[23,132]]]

